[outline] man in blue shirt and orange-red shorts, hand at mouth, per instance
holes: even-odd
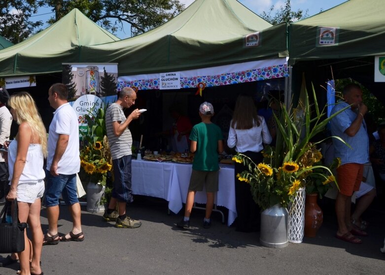
[[[343,96],[345,101],[334,106],[331,111],[332,115],[351,106],[331,120],[332,136],[342,138],[351,147],[333,138],[334,156],[341,159],[341,166],[337,168],[340,192],[336,199],[338,221],[336,237],[346,242],[360,244],[362,241],[354,235],[367,236],[367,233],[351,224],[350,200],[362,181],[363,164],[369,161],[369,138],[364,121],[368,108],[362,103],[362,91],[357,84],[345,86]]]

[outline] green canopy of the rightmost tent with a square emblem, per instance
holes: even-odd
[[[327,79],[351,77],[384,102],[384,83],[374,82],[374,56],[385,55],[384,12],[384,0],[350,0],[290,24],[293,91],[302,72],[316,89]]]

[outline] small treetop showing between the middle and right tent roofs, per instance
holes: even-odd
[[[272,15],[273,11],[274,5],[270,7],[270,11],[268,13],[263,11],[260,14],[260,17],[262,17],[272,25],[277,25],[281,22],[291,23],[308,17],[308,9],[305,10],[305,13],[301,9],[298,9],[297,11],[292,11],[290,0],[286,0],[285,6],[280,6],[280,9],[275,12],[274,15]]]

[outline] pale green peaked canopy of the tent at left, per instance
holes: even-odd
[[[81,46],[118,40],[78,9],[73,9],[44,31],[1,50],[0,77],[61,72],[62,63],[79,61]]]

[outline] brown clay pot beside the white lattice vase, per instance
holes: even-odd
[[[317,205],[317,193],[306,195],[305,201],[305,236],[315,237],[319,227],[322,225],[323,213]]]

